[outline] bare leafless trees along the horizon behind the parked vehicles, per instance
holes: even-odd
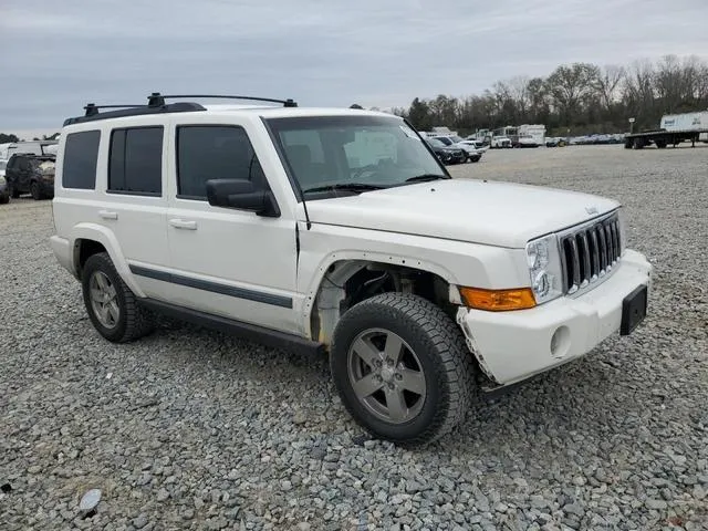
[[[708,110],[708,62],[666,55],[659,61],[598,66],[561,65],[548,77],[499,81],[482,94],[416,97],[392,112],[419,131],[448,126],[460,133],[506,125],[544,124],[550,136],[657,128],[662,115]]]

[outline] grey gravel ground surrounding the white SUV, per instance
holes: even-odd
[[[632,336],[419,451],[368,440],[325,360],[174,323],[105,342],[51,254],[50,202],[0,207],[0,529],[708,529],[708,147],[451,171],[618,198],[656,289]]]

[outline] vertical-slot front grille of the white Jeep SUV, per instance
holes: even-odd
[[[622,253],[617,214],[561,236],[563,293],[572,294],[612,271]]]

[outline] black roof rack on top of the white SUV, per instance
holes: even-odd
[[[166,103],[167,98],[204,98],[204,97],[212,97],[218,100],[251,100],[257,102],[269,102],[269,103],[282,103],[283,107],[296,107],[298,103],[291,98],[288,100],[274,100],[271,97],[259,97],[259,96],[231,96],[231,95],[218,95],[218,94],[200,94],[200,95],[163,95],[159,92],[154,92],[149,96],[147,96],[147,105],[140,104],[126,104],[126,105],[96,105],[95,103],[87,103],[84,106],[84,115],[75,116],[73,118],[66,118],[64,121],[64,126],[72,124],[82,124],[84,122],[95,122],[98,119],[107,119],[107,118],[119,118],[124,116],[143,116],[149,114],[162,114],[162,113],[189,113],[195,111],[206,111],[206,107],[198,103],[194,102],[177,102],[177,103]],[[106,113],[101,113],[102,108],[115,108],[116,111],[108,111]]]

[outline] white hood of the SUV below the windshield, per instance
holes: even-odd
[[[541,186],[449,179],[308,201],[308,214],[313,223],[523,248],[618,206]]]

